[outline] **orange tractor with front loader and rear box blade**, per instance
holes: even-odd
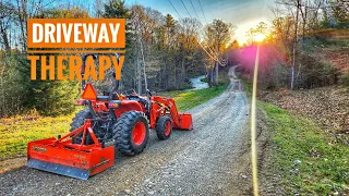
[[[95,56],[95,54],[94,54]],[[89,56],[86,56],[88,58]],[[82,74],[84,74],[84,65]],[[111,167],[116,151],[135,156],[146,146],[149,128],[159,139],[168,139],[172,128],[192,130],[192,117],[179,113],[171,98],[118,94],[119,81],[110,93],[98,96],[82,82],[86,108],[76,113],[65,136],[28,143],[27,167],[87,180]]]

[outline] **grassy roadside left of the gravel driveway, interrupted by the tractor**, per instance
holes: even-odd
[[[191,109],[197,105],[220,95],[228,84],[201,90],[177,90],[161,94],[172,97],[180,111]],[[26,155],[26,145],[31,140],[57,137],[70,130],[74,113],[65,117],[14,117],[0,119],[0,160]]]

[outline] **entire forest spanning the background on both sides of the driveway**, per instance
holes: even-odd
[[[198,20],[197,12],[202,10],[190,3],[186,7],[192,5],[196,14],[182,17],[173,4],[176,16],[139,4],[128,5],[122,0],[96,0],[93,8],[74,2],[3,0],[0,2],[0,117],[71,113],[80,96],[76,81],[29,79],[28,19],[127,19],[121,90],[134,88],[144,94],[147,88],[185,89],[190,88],[190,77],[203,74],[210,86],[217,86],[218,70],[237,64],[249,79],[256,45],[261,45],[263,89],[348,86],[348,42],[345,41],[349,35],[348,2],[276,0],[275,4],[270,8],[274,20],[269,24],[261,22],[246,32],[250,39],[242,45],[232,40],[234,24],[218,19]],[[257,34],[266,36],[262,44],[254,40]],[[330,57],[334,61],[328,61]],[[99,90],[110,90],[111,73],[106,73],[106,77],[97,82]]]

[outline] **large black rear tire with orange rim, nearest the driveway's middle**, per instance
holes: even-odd
[[[128,156],[141,154],[148,140],[149,126],[140,111],[123,113],[112,128],[116,148]]]

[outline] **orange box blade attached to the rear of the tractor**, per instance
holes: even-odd
[[[94,144],[73,144],[71,136],[84,132],[91,134]],[[91,128],[91,122],[62,138],[53,137],[28,143],[27,167],[71,177],[87,180],[113,164],[113,146],[103,147]]]

